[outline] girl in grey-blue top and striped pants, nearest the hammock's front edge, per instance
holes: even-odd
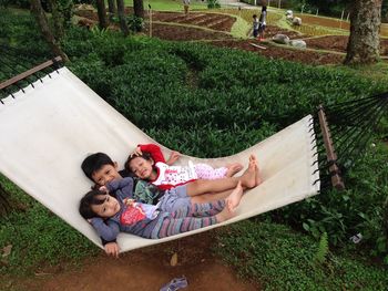
[[[105,240],[114,240],[120,231],[147,239],[159,239],[225,221],[234,216],[243,196],[242,183],[225,200],[210,204],[185,204],[175,211],[163,211],[156,205],[132,199],[133,179],[111,181],[89,191],[80,202],[80,214]],[[102,218],[102,219],[96,219]]]

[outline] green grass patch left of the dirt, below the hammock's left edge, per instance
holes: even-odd
[[[98,253],[94,245],[80,232],[10,180],[0,177],[0,183],[9,193],[13,206],[13,210],[0,219],[1,276],[31,274],[37,267],[55,266],[63,261],[76,264],[83,258]],[[10,248],[7,256],[4,248]]]

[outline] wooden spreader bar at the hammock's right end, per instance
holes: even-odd
[[[330,131],[327,125],[324,107],[320,105],[318,110],[319,110],[318,111],[319,125],[320,125],[320,131],[324,138],[327,162],[331,164],[329,166],[329,172],[331,174],[331,184],[337,190],[344,190],[345,185],[344,185],[343,178],[339,175],[339,168],[337,166],[337,154],[333,146],[333,139],[331,139]]]

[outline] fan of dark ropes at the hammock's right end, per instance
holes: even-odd
[[[353,167],[363,156],[364,149],[370,142],[377,126],[388,112],[388,93],[347,101],[330,106],[321,106],[328,131],[330,145],[334,148],[335,158],[327,158],[327,149],[323,145],[321,131],[318,123],[318,112],[314,115],[315,132],[319,136],[317,146],[319,154],[321,189],[328,186],[328,180],[335,175],[344,174]],[[333,166],[336,169],[333,170]],[[331,168],[331,169],[330,169]]]

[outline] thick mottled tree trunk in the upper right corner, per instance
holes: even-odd
[[[371,64],[380,59],[381,0],[356,0],[345,64]]]

